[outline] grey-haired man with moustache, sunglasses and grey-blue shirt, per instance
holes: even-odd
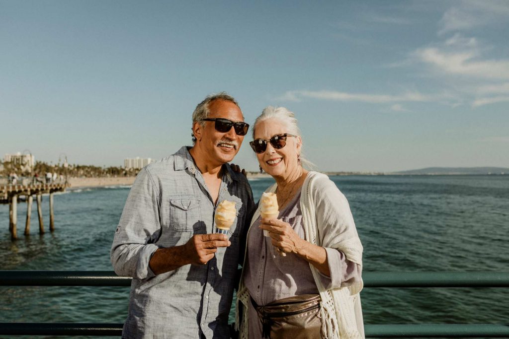
[[[254,203],[247,179],[228,162],[249,125],[225,93],[207,97],[192,119],[193,146],[139,172],[115,232],[111,262],[117,274],[133,278],[125,338],[230,336]],[[237,212],[227,235],[214,230],[223,200],[234,201]]]

